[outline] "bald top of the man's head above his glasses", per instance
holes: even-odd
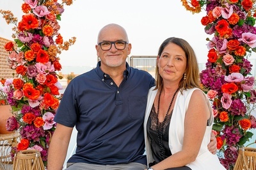
[[[126,33],[124,27],[119,26],[118,24],[108,24],[108,25],[102,27],[102,29],[100,29],[99,35],[98,35],[98,43],[102,42],[102,41],[106,41],[106,40],[104,40],[104,38],[106,36],[109,37],[109,35],[113,35],[113,38],[115,38],[114,35],[122,35],[122,37],[120,37],[120,38],[126,42],[129,42],[128,36],[127,36],[127,33]]]

